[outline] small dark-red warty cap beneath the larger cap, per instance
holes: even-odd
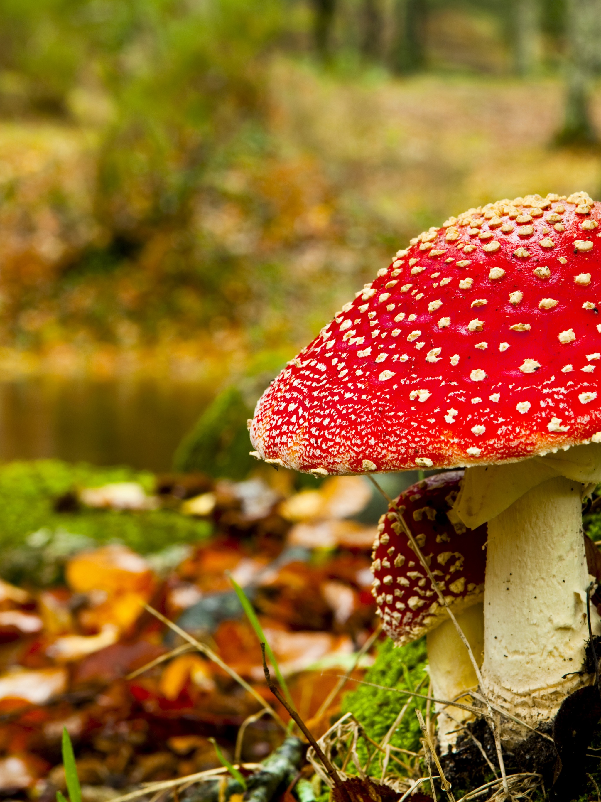
[[[455,613],[482,602],[486,567],[482,549],[486,525],[466,529],[452,513],[456,522],[449,518],[462,476],[462,471],[429,476],[397,499],[405,523]],[[377,529],[372,593],[386,633],[402,646],[434,630],[448,615],[392,508]]]

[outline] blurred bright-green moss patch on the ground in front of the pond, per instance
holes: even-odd
[[[69,553],[119,541],[147,554],[208,537],[210,525],[169,509],[56,512],[67,492],[110,482],[135,481],[147,492],[154,476],[132,468],[97,468],[61,460],[14,462],[0,468],[0,576],[48,584],[59,578]]]

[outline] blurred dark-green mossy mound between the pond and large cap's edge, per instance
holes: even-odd
[[[220,392],[179,444],[173,460],[175,471],[244,479],[256,464],[249,454],[248,418],[252,418],[252,409],[237,387]]]

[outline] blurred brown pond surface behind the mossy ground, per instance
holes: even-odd
[[[206,384],[160,379],[0,382],[0,461],[57,457],[168,471],[212,395]]]

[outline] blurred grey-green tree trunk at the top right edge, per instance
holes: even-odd
[[[598,140],[591,120],[591,89],[599,63],[601,0],[568,0],[567,30],[570,59],[563,128],[558,144],[590,145]]]

